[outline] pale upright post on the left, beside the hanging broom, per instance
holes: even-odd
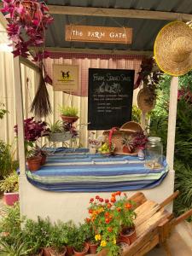
[[[18,148],[19,148],[19,163],[20,176],[24,176],[26,172],[26,159],[24,147],[24,126],[23,126],[23,99],[22,99],[22,84],[20,73],[20,59],[14,58],[14,76],[15,76],[15,102],[16,102],[16,119],[18,125]]]

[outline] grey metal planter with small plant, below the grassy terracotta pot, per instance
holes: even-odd
[[[50,142],[63,142],[70,139],[70,131],[64,129],[63,122],[61,120],[55,121],[55,123],[49,125],[49,141]]]

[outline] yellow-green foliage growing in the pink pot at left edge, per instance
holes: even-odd
[[[0,181],[0,190],[3,192],[18,192],[19,191],[19,182],[18,182],[18,174],[13,172],[9,174],[8,177],[4,177],[2,181]]]

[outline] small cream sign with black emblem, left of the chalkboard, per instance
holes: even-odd
[[[54,90],[73,93],[79,87],[79,66],[53,64]]]

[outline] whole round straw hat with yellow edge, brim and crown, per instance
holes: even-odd
[[[164,26],[154,42],[154,59],[164,73],[181,76],[192,69],[192,29],[182,21]]]

